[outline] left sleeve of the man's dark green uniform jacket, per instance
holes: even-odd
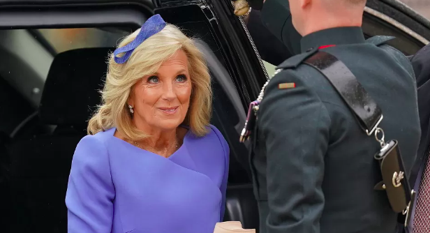
[[[267,156],[266,227],[269,233],[318,233],[331,120],[318,95],[293,72],[284,70],[269,82],[258,112]],[[296,87],[278,88],[286,82]]]

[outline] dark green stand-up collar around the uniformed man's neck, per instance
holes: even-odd
[[[348,45],[365,41],[361,27],[336,27],[310,33],[300,43],[302,52],[306,52],[323,45]]]

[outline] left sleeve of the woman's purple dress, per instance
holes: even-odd
[[[77,144],[68,181],[68,233],[111,232],[114,196],[105,145],[86,136]]]

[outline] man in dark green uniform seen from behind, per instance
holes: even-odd
[[[251,134],[260,232],[395,232],[398,215],[387,193],[374,188],[382,180],[373,158],[380,144],[360,128],[327,77],[303,62],[320,50],[349,68],[382,109],[379,127],[387,140],[398,140],[406,174],[420,141],[410,62],[384,44],[387,38],[364,39],[365,0],[290,0],[289,6],[266,0],[263,16],[271,2],[285,7],[270,20],[285,22],[290,8],[303,38],[302,53],[281,63],[265,87]]]

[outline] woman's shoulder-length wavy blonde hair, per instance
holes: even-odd
[[[119,43],[123,47],[131,43],[140,29],[131,33]],[[89,120],[87,133],[117,127],[119,133],[130,140],[149,137],[133,124],[127,100],[131,89],[145,75],[156,73],[163,61],[170,59],[178,50],[183,50],[188,58],[191,77],[191,100],[184,124],[198,137],[207,133],[212,112],[212,89],[210,75],[203,54],[195,46],[195,40],[188,38],[177,27],[167,24],[163,30],[144,40],[131,54],[126,63],[119,64],[110,54],[102,104]]]

